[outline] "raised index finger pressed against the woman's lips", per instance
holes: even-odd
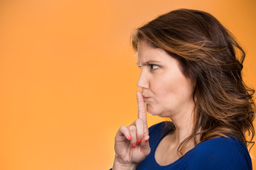
[[[142,92],[137,91],[136,95],[137,95],[137,103],[138,103],[138,118],[144,121],[144,125],[146,125],[146,129],[147,129],[148,126],[147,126],[147,120],[146,120],[146,107],[145,107],[144,99],[142,96]]]

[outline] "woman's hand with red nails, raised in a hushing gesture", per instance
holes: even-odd
[[[128,127],[121,126],[115,136],[115,163],[137,166],[150,153],[149,128],[142,93],[137,91],[138,119]],[[113,166],[114,169],[114,166]]]

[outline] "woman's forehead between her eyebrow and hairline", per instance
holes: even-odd
[[[139,41],[137,46],[138,63],[143,63],[148,60],[156,60],[159,62],[164,62],[170,59],[164,50],[160,48],[151,47],[145,40]]]

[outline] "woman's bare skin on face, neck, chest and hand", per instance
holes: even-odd
[[[150,153],[149,142],[146,142],[149,139],[146,111],[151,115],[171,118],[176,127],[156,148],[155,159],[162,166],[179,158],[176,152],[178,145],[193,128],[193,85],[181,72],[178,61],[144,40],[138,43],[137,52],[137,65],[142,69],[137,84],[142,91],[137,91],[138,119],[129,127],[119,128],[115,137],[113,169],[136,169],[137,164]],[[134,144],[137,145],[132,148]],[[185,151],[193,147],[193,142],[188,142]]]

